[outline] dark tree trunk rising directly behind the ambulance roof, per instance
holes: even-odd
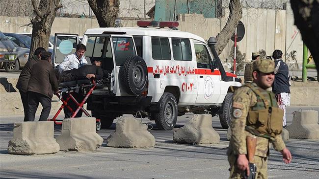
[[[87,0],[100,27],[114,27],[118,18],[120,0]]]

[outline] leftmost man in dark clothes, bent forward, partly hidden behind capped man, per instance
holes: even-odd
[[[23,110],[25,112],[25,119],[24,121],[27,121],[27,84],[29,83],[29,79],[31,76],[31,70],[35,63],[40,61],[41,54],[45,52],[46,50],[43,47],[38,47],[34,51],[34,55],[27,61],[25,67],[22,69],[16,88],[20,92],[21,101],[23,105]]]

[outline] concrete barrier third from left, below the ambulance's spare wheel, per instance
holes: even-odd
[[[113,134],[107,137],[108,147],[154,147],[155,137],[147,131],[147,125],[135,119],[132,114],[124,114],[116,122]]]

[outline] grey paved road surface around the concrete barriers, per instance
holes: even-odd
[[[317,107],[289,107],[288,124],[292,112]],[[192,114],[179,117],[177,128],[183,126]],[[23,116],[0,117],[0,177],[10,179],[226,179],[229,164],[225,155],[228,141],[218,117],[213,117],[213,128],[220,135],[215,145],[182,145],[172,142],[173,131],[150,132],[155,136],[154,148],[111,148],[106,147],[106,138],[115,130],[101,130],[104,143],[97,152],[58,152],[51,155],[18,156],[8,155],[7,142],[13,136],[13,123]],[[144,123],[149,120],[143,119]],[[154,122],[151,122],[154,124]],[[155,125],[154,125],[155,126]],[[55,136],[60,126],[55,127]],[[296,140],[286,142],[293,160],[283,164],[280,153],[270,151],[268,174],[272,179],[318,179],[319,140]]]

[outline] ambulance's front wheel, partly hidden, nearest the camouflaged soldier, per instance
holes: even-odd
[[[219,121],[223,129],[228,129],[232,122],[232,104],[233,104],[233,95],[232,92],[227,92],[224,102],[221,106],[222,113],[219,114]]]

